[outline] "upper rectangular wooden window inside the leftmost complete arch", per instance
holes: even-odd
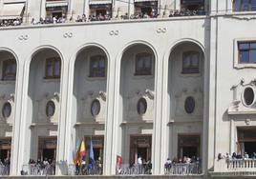
[[[46,59],[46,77],[45,78],[59,78],[60,77],[60,58],[53,57]]]

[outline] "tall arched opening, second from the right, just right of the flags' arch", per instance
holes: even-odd
[[[123,165],[149,164],[152,158],[156,56],[147,45],[134,44],[123,51],[120,63],[117,152]]]

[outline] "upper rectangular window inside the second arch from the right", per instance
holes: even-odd
[[[135,75],[151,75],[152,72],[152,54],[140,53],[136,55]]]

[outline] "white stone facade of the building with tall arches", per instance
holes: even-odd
[[[0,11],[13,2],[0,0]],[[40,157],[42,137],[56,139],[56,162],[67,167],[73,164],[77,139],[90,136],[104,141],[104,175],[116,174],[117,155],[131,162],[132,139],[139,136],[150,140],[144,148],[155,175],[164,174],[166,158],[182,155],[182,136],[198,139],[203,177],[231,172],[218,154],[245,151],[240,133],[256,127],[255,61],[240,63],[238,50],[238,43],[256,39],[255,11],[234,12],[231,0],[205,0],[207,15],[167,17],[167,11],[181,10],[181,1],[159,0],[160,18],[119,20],[134,13],[135,2],[110,1],[111,21],[33,26],[28,25],[31,19],[45,17],[51,3],[67,4],[67,16],[76,19],[89,16],[90,3],[100,0],[17,2],[26,5],[24,25],[0,28],[1,79],[4,61],[16,62],[15,81],[0,81],[0,109],[11,104],[11,115],[0,115],[0,140],[11,139],[11,175],[20,175],[31,158]],[[187,51],[199,54],[199,72],[182,73]],[[135,74],[139,53],[152,55],[150,75]],[[90,76],[95,55],[106,56],[104,77]],[[60,59],[61,72],[48,79],[46,59],[52,57]],[[250,104],[246,88],[253,92]],[[184,109],[189,96],[195,100],[192,113]],[[147,104],[141,115],[140,98]],[[96,116],[94,100],[100,103]],[[52,117],[46,114],[49,101],[55,106]],[[57,165],[56,175],[67,172]]]

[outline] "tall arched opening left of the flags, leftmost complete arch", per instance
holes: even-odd
[[[43,164],[39,170],[47,169],[51,175],[55,173],[57,152],[61,64],[56,50],[44,48],[33,53],[29,71],[25,152],[30,155],[25,155],[24,161],[30,161],[30,168],[36,168],[32,165],[35,161]]]

